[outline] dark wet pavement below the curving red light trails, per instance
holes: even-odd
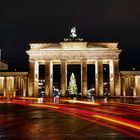
[[[110,128],[45,108],[0,103],[0,140],[127,139]]]

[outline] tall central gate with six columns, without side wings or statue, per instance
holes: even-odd
[[[95,65],[96,96],[103,96],[103,64],[109,65],[110,95],[120,96],[120,73],[118,43],[64,41],[60,43],[31,43],[29,55],[28,96],[38,97],[39,65],[45,65],[45,96],[53,90],[53,65],[60,65],[62,96],[67,90],[67,65],[81,67],[81,93],[87,95],[87,65]]]

